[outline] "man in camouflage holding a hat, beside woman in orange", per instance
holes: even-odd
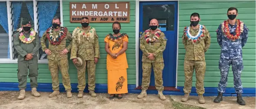
[[[96,97],[94,93],[95,88],[95,70],[98,58],[100,58],[100,47],[98,35],[96,34],[95,28],[89,26],[89,19],[87,17],[81,18],[82,27],[77,27],[72,33],[73,43],[71,49],[70,59],[73,63],[77,63],[76,54],[79,53],[85,58],[85,63],[87,64],[88,72],[88,89],[89,94],[92,97]],[[77,69],[77,79],[78,79],[78,90],[79,93],[77,97],[83,97],[83,90],[85,88],[85,70]]]

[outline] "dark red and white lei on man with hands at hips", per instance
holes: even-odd
[[[60,27],[60,32],[61,31],[63,31],[63,32],[60,33],[60,35],[59,35],[59,37],[57,38],[56,41],[51,40],[50,31],[53,31],[52,27],[47,29],[47,34],[46,34],[46,37],[49,40],[50,44],[59,45],[61,43],[61,41],[66,37],[67,28],[66,27]]]

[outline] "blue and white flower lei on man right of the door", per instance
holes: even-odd
[[[199,31],[196,34],[196,36],[192,36],[190,34],[190,26],[186,26],[184,28],[183,34],[185,35],[186,39],[190,42],[194,43],[199,43],[200,40],[204,37],[205,33],[205,27],[203,25],[199,25]]]

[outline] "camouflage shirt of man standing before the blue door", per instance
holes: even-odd
[[[153,43],[147,43],[145,39],[145,32],[140,37],[140,50],[142,50],[142,62],[163,62],[163,51],[166,47],[167,39],[163,32],[160,33],[159,39],[156,39]],[[153,38],[155,34],[150,34],[150,38]],[[147,56],[148,53],[153,53],[155,59],[150,60]]]

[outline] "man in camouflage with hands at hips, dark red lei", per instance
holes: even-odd
[[[70,76],[68,74],[69,64],[67,53],[70,52],[72,37],[66,27],[60,26],[60,19],[53,18],[53,26],[48,28],[41,38],[42,49],[47,53],[49,70],[52,76],[53,93],[49,97],[55,97],[60,94],[59,88],[59,70],[62,75],[62,83],[66,90],[68,98],[72,97]],[[49,41],[49,48],[46,47],[46,41]],[[70,44],[66,47],[66,40],[70,40]]]

